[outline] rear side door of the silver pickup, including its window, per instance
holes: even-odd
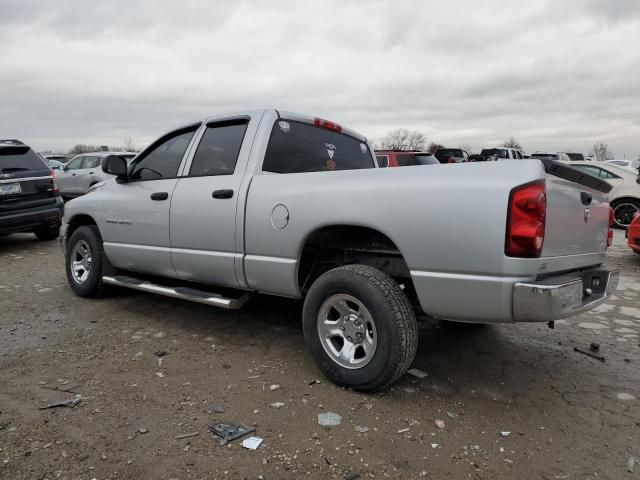
[[[171,258],[179,278],[235,287],[242,241],[236,207],[250,144],[249,120],[207,124],[171,202]]]

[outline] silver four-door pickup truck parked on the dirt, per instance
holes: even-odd
[[[367,139],[259,110],[160,137],[67,204],[71,288],[117,285],[241,307],[304,299],[305,343],[333,382],[382,389],[411,365],[416,315],[549,322],[604,302],[618,272],[607,183],[539,160],[377,168]]]

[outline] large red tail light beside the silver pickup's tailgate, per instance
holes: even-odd
[[[509,197],[505,254],[538,258],[544,244],[547,194],[544,182],[514,188]]]

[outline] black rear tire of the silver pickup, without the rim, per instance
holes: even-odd
[[[339,365],[320,339],[321,308],[334,295],[357,299],[374,320],[377,345],[362,367]],[[305,299],[302,323],[306,346],[322,373],[337,385],[362,392],[396,382],[411,366],[418,347],[418,326],[409,299],[386,273],[366,265],[342,266],[321,275]]]

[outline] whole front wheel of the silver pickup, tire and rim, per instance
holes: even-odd
[[[98,227],[78,228],[67,242],[65,270],[71,289],[81,297],[99,297],[106,293],[102,282],[102,238]]]

